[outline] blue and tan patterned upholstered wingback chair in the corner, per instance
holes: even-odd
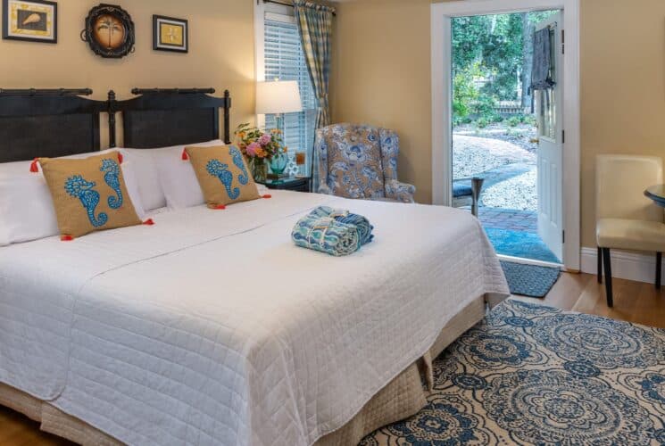
[[[397,180],[399,136],[387,128],[335,124],[314,142],[313,191],[345,198],[413,202],[416,187]]]

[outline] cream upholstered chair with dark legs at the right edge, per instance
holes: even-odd
[[[655,283],[657,289],[661,288],[662,252],[665,252],[663,210],[644,197],[644,189],[657,183],[662,183],[661,158],[633,155],[596,158],[598,283],[603,282],[604,264],[609,307],[613,305],[611,249],[656,252]]]

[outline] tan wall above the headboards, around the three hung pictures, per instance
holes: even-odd
[[[133,87],[215,87],[233,97],[231,125],[254,120],[254,2],[141,0],[121,2],[136,26],[136,52],[116,59],[93,54],[79,38],[97,0],[58,2],[58,44],[0,40],[0,88],[90,87],[119,98]],[[153,51],[153,14],[189,21],[189,53]],[[105,132],[103,132],[105,136]]]

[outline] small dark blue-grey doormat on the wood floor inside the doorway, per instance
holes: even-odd
[[[511,261],[502,261],[501,267],[511,293],[528,297],[544,297],[561,276],[560,268],[536,267]]]

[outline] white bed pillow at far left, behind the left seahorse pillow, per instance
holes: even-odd
[[[88,156],[109,153],[82,153],[63,158],[81,159]],[[58,223],[51,193],[46,180],[39,173],[30,172],[31,161],[0,163],[0,246],[30,242],[40,238],[58,235]],[[132,166],[123,161],[122,176],[129,193],[129,199],[143,219],[145,211],[138,194],[137,182]]]

